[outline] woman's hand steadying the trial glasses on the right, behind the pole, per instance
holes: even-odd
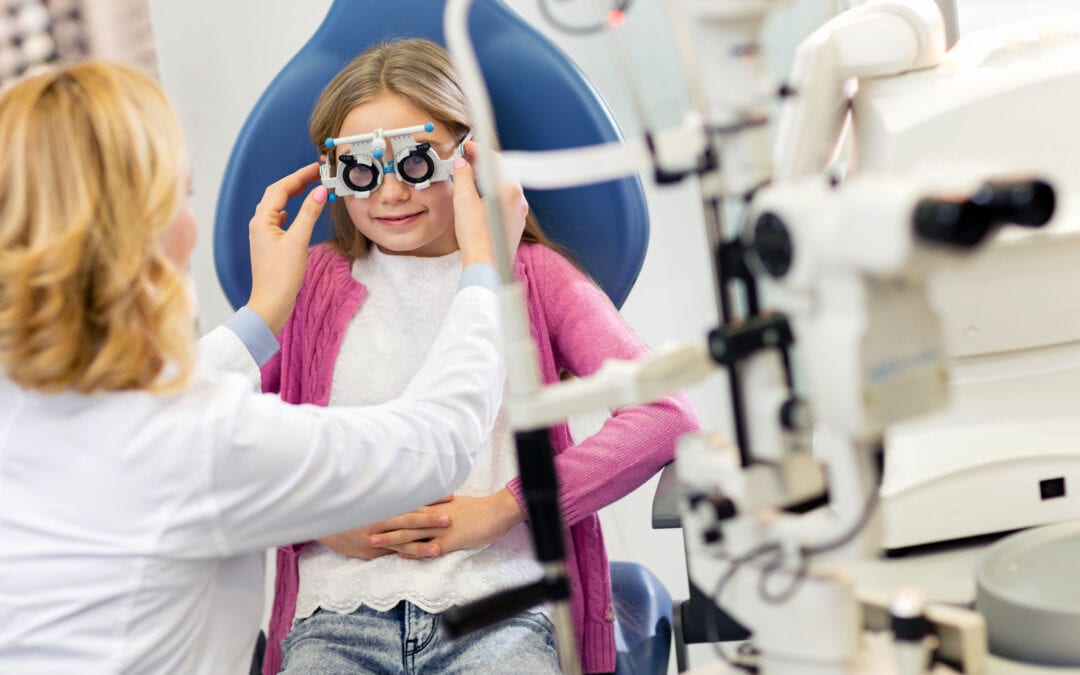
[[[472,162],[476,160],[478,148],[474,141],[465,144],[465,157],[454,165],[454,228],[461,248],[461,265],[473,262],[495,264],[495,247],[487,227],[487,212],[484,200],[476,192],[476,178]],[[525,216],[529,213],[528,202],[521,185],[504,186],[501,190],[503,231],[507,248],[511,257],[517,251]]]

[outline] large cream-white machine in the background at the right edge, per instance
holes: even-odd
[[[942,411],[887,434],[889,549],[1080,517],[1080,14],[971,33],[941,66],[865,82],[856,174],[1040,175],[1042,232],[1003,232],[929,292],[950,357]]]

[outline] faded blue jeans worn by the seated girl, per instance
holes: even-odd
[[[554,630],[542,613],[458,639],[438,630],[438,619],[407,602],[389,611],[320,609],[285,638],[282,673],[559,673]]]

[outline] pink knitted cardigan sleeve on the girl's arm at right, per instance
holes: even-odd
[[[536,286],[555,366],[575,376],[595,373],[605,361],[649,353],[604,292],[563,256],[531,247],[529,283]],[[699,428],[683,392],[613,410],[604,427],[555,457],[567,526],[629,495],[675,457],[683,434]],[[507,484],[523,510],[521,478]]]

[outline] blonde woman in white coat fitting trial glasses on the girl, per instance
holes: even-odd
[[[467,280],[436,345],[401,401],[327,410],[253,390],[326,192],[287,231],[281,208],[316,165],[267,190],[252,300],[201,346],[245,378],[195,365],[189,177],[150,78],[98,63],[16,83],[0,147],[2,670],[246,672],[268,546],[453,490],[490,429],[503,372],[471,167]]]

